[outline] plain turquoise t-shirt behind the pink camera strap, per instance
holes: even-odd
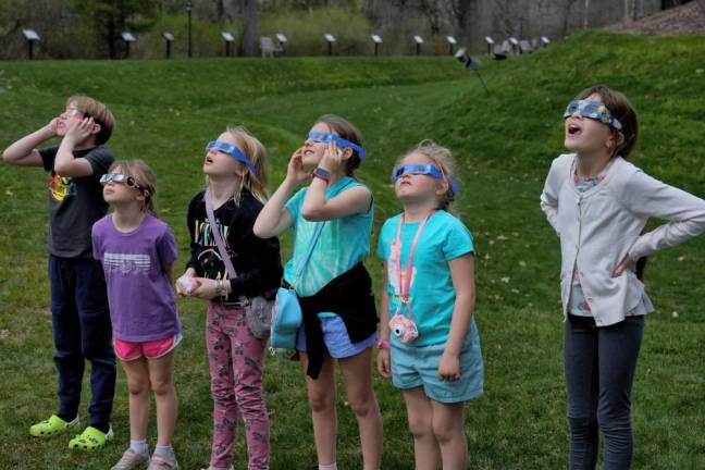
[[[396,314],[400,305],[399,273],[394,252],[400,217],[401,214],[393,217],[384,223],[378,245],[378,256],[387,264],[389,319]],[[405,276],[409,250],[419,224],[420,222],[405,223],[401,227],[401,271]],[[462,222],[446,211],[431,215],[413,253],[409,297],[419,337],[410,343],[411,346],[441,344],[448,339],[456,298],[448,261],[473,251],[472,234]],[[404,306],[401,312],[409,316]],[[397,341],[392,336],[393,341]]]

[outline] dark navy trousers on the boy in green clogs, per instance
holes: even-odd
[[[78,413],[85,361],[90,361],[90,424],[110,422],[115,354],[106,279],[99,261],[49,256],[51,320],[59,372],[59,415]]]

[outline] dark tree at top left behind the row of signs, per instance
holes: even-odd
[[[158,14],[157,0],[73,0],[74,10],[92,20],[96,32],[118,58],[118,45],[124,30],[149,30]]]

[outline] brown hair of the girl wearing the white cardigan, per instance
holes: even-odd
[[[613,118],[616,118],[621,123],[621,131],[609,127],[616,141],[619,141],[619,134],[624,137],[624,140],[615,148],[613,157],[620,156],[627,159],[634,149],[639,136],[639,120],[634,108],[623,94],[604,85],[593,85],[585,88],[578,94],[577,98],[586,99],[591,95],[599,95],[602,102],[607,107]]]

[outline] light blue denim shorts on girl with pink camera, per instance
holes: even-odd
[[[438,362],[446,343],[428,346],[409,346],[393,339],[392,382],[401,389],[423,387],[425,395],[435,401],[458,403],[475,398],[483,393],[484,366],[480,336],[474,319],[460,351],[460,379],[438,380]]]

